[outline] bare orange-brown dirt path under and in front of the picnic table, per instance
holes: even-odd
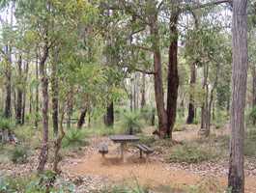
[[[179,140],[189,140],[191,136],[192,138],[197,136],[196,132],[196,130],[189,130],[189,132],[175,133],[174,136]],[[104,140],[107,141],[106,138]],[[65,164],[63,168],[74,176],[100,176],[121,183],[138,181],[140,184],[151,187],[195,185],[205,179],[211,179],[214,183],[226,186],[227,177],[225,175],[214,177],[213,174],[200,175],[180,168],[172,169],[168,164],[156,159],[149,161],[140,159],[138,152],[127,152],[125,162],[123,162],[118,157],[118,146],[109,141],[107,143],[110,147],[109,154],[105,158],[102,158],[95,150],[80,159],[74,159],[73,163],[75,164]],[[246,193],[256,192],[255,181],[256,177],[246,177]],[[212,192],[216,192],[216,190],[213,189]]]

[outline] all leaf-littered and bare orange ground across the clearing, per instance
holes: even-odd
[[[153,130],[154,127],[144,128],[141,137],[153,138]],[[201,146],[202,149],[207,145],[218,150],[217,140],[221,137],[225,138],[227,135],[229,135],[228,126],[212,129],[211,138],[213,139],[201,142],[197,125],[185,125],[185,130],[175,131],[173,138],[176,142],[185,143],[188,146],[196,143],[196,146]],[[200,163],[174,163],[168,161],[168,157],[179,145],[174,146],[170,140],[158,139],[155,142],[148,142],[155,150],[148,161],[145,158],[139,158],[139,151],[128,146],[125,162],[123,162],[119,158],[119,144],[114,144],[108,137],[94,136],[88,140],[88,146],[79,147],[73,151],[64,151],[65,156],[60,163],[63,171],[60,179],[74,183],[77,193],[100,192],[98,190],[116,185],[134,187],[138,184],[150,187],[153,192],[157,193],[216,193],[223,192],[226,187],[228,175],[228,148],[226,145],[223,155],[217,159]],[[102,142],[109,147],[109,153],[105,158],[98,153],[98,147]],[[225,138],[225,143],[227,142],[228,140]],[[253,144],[255,145],[255,143]],[[1,163],[0,161],[0,176],[4,174],[22,177],[31,174],[37,168],[38,153],[37,149],[25,164],[13,164],[10,161]],[[50,154],[47,168],[51,168],[51,159],[52,155]],[[245,158],[244,174],[245,193],[255,193],[255,158]],[[193,190],[194,187],[197,188],[196,191]],[[185,191],[186,188],[189,189]]]

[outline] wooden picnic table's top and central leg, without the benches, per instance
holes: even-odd
[[[111,135],[109,138],[114,143],[120,143],[121,158],[124,160],[124,151],[128,143],[134,143],[139,141],[139,138],[135,135]]]

